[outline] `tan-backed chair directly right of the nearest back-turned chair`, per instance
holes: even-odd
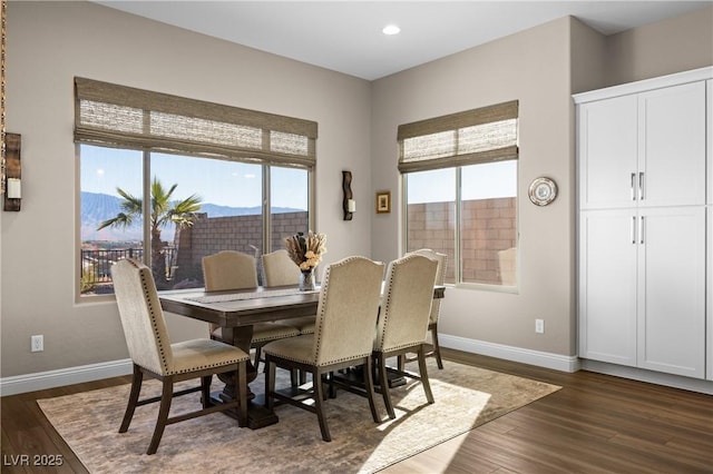
[[[438,271],[438,263],[422,255],[407,255],[393,260],[387,269],[383,299],[377,336],[374,339],[374,362],[379,376],[380,391],[387,413],[395,418],[391,402],[387,374],[387,358],[416,353],[419,374],[402,369],[395,371],[400,376],[421,381],[426,399],[433,403],[433,394],[426,368],[424,344],[428,334],[433,284]]]

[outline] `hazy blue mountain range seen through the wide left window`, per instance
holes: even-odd
[[[123,199],[98,192],[81,192],[81,241],[87,240],[119,240],[131,241],[141,240],[141,221],[137,219],[130,227],[116,228],[107,227],[97,230],[97,227],[107,219],[116,217],[121,211]],[[273,207],[273,214],[299,213],[304,209],[289,207]],[[208,217],[231,217],[252,216],[262,213],[260,206],[255,207],[231,207],[206,203],[201,206],[199,213],[206,213]],[[163,240],[174,239],[173,226],[166,227],[162,231]]]

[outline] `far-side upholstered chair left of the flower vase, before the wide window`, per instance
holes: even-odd
[[[222,250],[203,257],[203,280],[206,292],[257,288],[255,257],[235,250]],[[209,325],[211,338],[223,340],[221,327]],[[262,361],[262,346],[283,337],[299,336],[300,329],[281,323],[256,323],[253,325],[251,347],[255,349],[254,365]]]

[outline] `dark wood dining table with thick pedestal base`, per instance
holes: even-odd
[[[300,290],[297,286],[258,287],[245,290],[206,292],[204,288],[169,289],[158,292],[165,312],[193,319],[213,323],[221,327],[222,339],[250,353],[253,325],[315,315],[321,287]],[[433,297],[442,298],[446,287],[433,287]],[[219,376],[223,389],[212,395],[213,403],[235,399],[236,387],[233,377]],[[247,426],[252,429],[277,423],[277,416],[267,411],[260,396],[250,389],[250,383],[257,378],[257,369],[252,361],[247,363],[248,406]],[[228,413],[228,412],[226,412]],[[228,413],[229,414],[229,413]],[[232,414],[237,416],[237,414]]]

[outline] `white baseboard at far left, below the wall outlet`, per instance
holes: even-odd
[[[61,387],[82,382],[128,375],[133,372],[131,359],[110,361],[79,367],[60,368],[36,374],[17,375],[0,378],[0,396],[17,395],[26,392]]]

